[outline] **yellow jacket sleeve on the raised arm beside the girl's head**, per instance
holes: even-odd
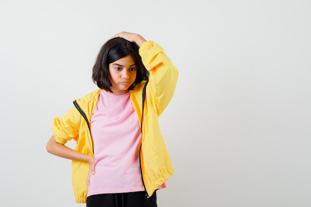
[[[153,41],[144,42],[139,53],[147,70],[150,71],[147,99],[157,116],[164,111],[173,97],[178,79],[178,69],[166,56],[163,48]],[[149,96],[149,97],[148,97]]]

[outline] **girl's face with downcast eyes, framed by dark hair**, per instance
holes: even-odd
[[[109,64],[110,89],[114,95],[123,95],[136,79],[136,66],[131,55]]]

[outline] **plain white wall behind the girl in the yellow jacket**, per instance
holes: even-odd
[[[84,206],[45,145],[96,88],[101,45],[129,31],[180,70],[159,207],[310,207],[310,25],[310,0],[0,0],[0,206]]]

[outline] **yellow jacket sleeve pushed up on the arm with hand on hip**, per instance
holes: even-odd
[[[53,135],[57,142],[65,144],[71,139],[77,141],[78,138],[78,123],[77,109],[73,106],[66,112],[64,118],[56,117],[53,120]]]

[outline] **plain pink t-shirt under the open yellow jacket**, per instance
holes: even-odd
[[[91,117],[95,174],[87,196],[144,191],[139,162],[141,129],[130,92],[101,90]]]

